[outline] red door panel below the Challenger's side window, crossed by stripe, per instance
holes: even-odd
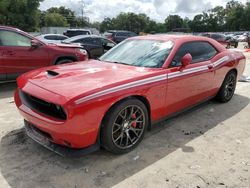
[[[194,105],[212,94],[214,71],[209,62],[190,65],[184,70],[172,68],[168,74],[166,114]]]

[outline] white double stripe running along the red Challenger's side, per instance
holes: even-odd
[[[216,67],[216,66],[219,66],[220,64],[224,63],[227,60],[229,60],[229,57],[225,56],[225,57],[217,60],[216,62],[214,62],[214,63],[212,63],[210,65],[212,65],[213,67]],[[98,98],[98,97],[101,97],[101,96],[104,96],[104,95],[108,95],[110,93],[115,93],[117,91],[130,89],[130,88],[133,88],[133,87],[142,86],[142,85],[146,85],[146,84],[150,84],[150,83],[154,83],[154,82],[159,82],[159,81],[163,81],[163,80],[167,80],[167,79],[171,79],[171,78],[176,78],[176,77],[180,77],[180,76],[184,76],[184,75],[188,75],[188,74],[192,74],[192,73],[197,73],[197,72],[201,72],[201,71],[204,71],[204,70],[208,70],[208,65],[203,65],[203,66],[200,66],[200,67],[185,69],[183,71],[173,72],[173,73],[169,73],[168,75],[167,74],[162,74],[162,75],[159,75],[159,76],[145,78],[145,79],[130,82],[130,83],[127,83],[127,84],[122,84],[120,86],[115,86],[115,87],[105,89],[103,91],[99,91],[99,92],[96,92],[94,94],[88,95],[86,97],[80,98],[80,99],[75,101],[75,104],[81,104],[81,103],[89,101],[91,99],[95,99],[95,98]]]

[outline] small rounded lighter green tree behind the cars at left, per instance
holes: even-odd
[[[58,13],[46,13],[44,18],[45,26],[47,27],[66,27],[68,26],[67,19]]]

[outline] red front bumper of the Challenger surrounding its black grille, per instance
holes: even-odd
[[[25,88],[29,87],[29,84],[30,83],[27,83]],[[46,98],[43,99],[45,101],[47,101],[47,98],[53,98],[55,100],[58,98],[55,94],[42,90],[35,85],[31,85],[30,87],[32,87],[32,91],[36,90],[41,96],[45,96]],[[81,114],[84,113],[81,111],[82,108],[67,120],[60,120],[43,114],[39,109],[33,110],[32,108],[27,107],[21,100],[18,90],[15,92],[15,103],[24,119],[34,125],[35,128],[49,135],[51,142],[55,144],[73,149],[82,149],[98,143],[98,122],[100,120],[97,118],[88,118],[91,117],[89,115],[82,116]]]

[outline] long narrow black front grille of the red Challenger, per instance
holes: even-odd
[[[32,110],[35,110],[37,112],[40,112],[42,114],[45,114],[47,116],[57,118],[60,120],[67,119],[67,115],[61,106],[46,102],[42,99],[29,95],[21,90],[19,90],[19,96],[23,104],[31,108]]]

